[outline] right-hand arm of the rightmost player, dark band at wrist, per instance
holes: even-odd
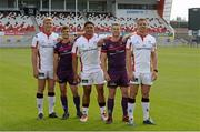
[[[151,62],[152,62],[152,80],[157,80],[158,77],[158,53],[157,48],[151,51]]]

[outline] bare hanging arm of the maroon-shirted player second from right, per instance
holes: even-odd
[[[107,72],[107,53],[106,52],[101,52],[101,69],[103,70],[103,74],[104,74],[104,79],[107,81],[110,81],[110,77]]]

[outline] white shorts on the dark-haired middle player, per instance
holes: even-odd
[[[103,71],[92,73],[81,72],[81,85],[104,84]]]

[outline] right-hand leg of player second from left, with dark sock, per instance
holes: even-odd
[[[82,113],[80,111],[80,97],[79,97],[79,93],[78,93],[78,87],[70,84],[70,89],[71,89],[71,92],[73,94],[73,103],[74,103],[76,109],[77,109],[77,116],[81,118]]]

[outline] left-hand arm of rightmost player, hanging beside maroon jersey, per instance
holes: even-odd
[[[127,65],[127,73],[129,80],[133,79],[133,71],[132,71],[132,49],[131,49],[131,42],[128,40],[127,47],[126,47],[126,65]]]

